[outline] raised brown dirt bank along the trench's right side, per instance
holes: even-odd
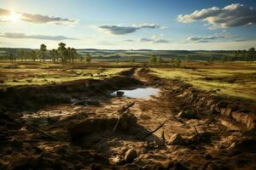
[[[189,105],[191,109],[207,113],[208,116],[224,116],[235,121],[247,130],[248,134],[256,135],[256,104],[253,101],[232,99],[226,95],[216,95],[214,91],[194,88],[180,80],[163,79],[150,74],[147,69],[138,71],[154,86],[165,88],[172,97]]]

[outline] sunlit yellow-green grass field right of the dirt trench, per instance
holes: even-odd
[[[256,70],[240,69],[160,69],[152,68],[154,74],[171,79],[181,79],[195,88],[218,90],[218,94],[256,100]],[[230,81],[231,80],[231,81]]]

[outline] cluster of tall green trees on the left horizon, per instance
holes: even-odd
[[[62,64],[73,64],[75,61],[82,62],[84,60],[81,54],[78,54],[75,48],[66,47],[66,44],[60,42],[58,48],[48,50],[47,46],[43,43],[40,45],[39,49],[21,49],[17,54],[8,54],[4,59],[9,59],[14,62],[19,61],[43,61],[50,60],[53,63],[62,63]],[[90,63],[91,61],[90,54],[86,54],[85,62]]]

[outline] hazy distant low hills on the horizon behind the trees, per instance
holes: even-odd
[[[18,54],[20,50],[30,50],[30,48],[0,48],[0,56],[6,54]],[[79,54],[90,54],[94,59],[130,59],[137,60],[149,59],[152,54],[162,57],[163,59],[185,59],[189,55],[191,60],[207,60],[210,57],[214,59],[222,59],[225,56],[230,56],[234,51],[230,50],[124,50],[124,49],[96,49],[96,48],[80,48],[77,49]]]

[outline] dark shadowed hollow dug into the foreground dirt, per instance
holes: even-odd
[[[113,132],[117,122],[119,124]],[[68,129],[68,132],[72,137],[73,144],[79,145],[83,149],[96,149],[98,151],[102,150],[99,150],[97,145],[106,145],[108,140],[111,139],[115,139],[115,141],[130,140],[133,142],[158,139],[154,135],[144,139],[143,137],[150,132],[148,129],[137,124],[137,117],[131,113],[122,114],[119,118],[100,117],[88,119],[76,123]]]

